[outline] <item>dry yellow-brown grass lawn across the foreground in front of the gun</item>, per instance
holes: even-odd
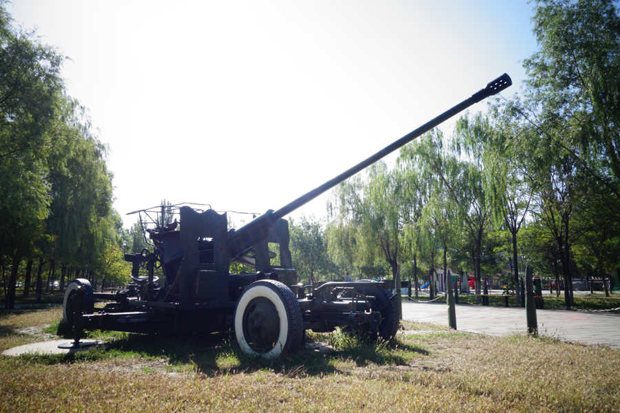
[[[41,322],[16,317],[10,325]],[[113,350],[112,357],[51,365],[5,357],[0,411],[620,411],[620,352],[607,348],[413,323],[405,323],[389,346],[360,346],[339,334],[311,338],[335,350],[305,350],[265,363],[219,341],[205,347],[185,343],[174,351],[196,354],[184,358],[157,348],[167,341],[149,340],[147,350]],[[121,341],[129,348],[138,339]],[[200,359],[203,350],[211,355]]]

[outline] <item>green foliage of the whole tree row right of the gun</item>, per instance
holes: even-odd
[[[428,271],[442,257],[477,275],[510,265],[514,278],[525,265],[564,277],[619,266],[617,8],[541,0],[533,22],[539,50],[524,61],[524,98],[466,114],[451,140],[435,129],[401,148],[395,170],[378,163],[333,192],[339,262],[377,262],[397,237],[397,261]]]

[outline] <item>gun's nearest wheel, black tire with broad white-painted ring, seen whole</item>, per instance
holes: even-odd
[[[246,354],[273,359],[302,344],[304,323],[297,297],[273,279],[253,282],[245,289],[234,322],[237,343]]]

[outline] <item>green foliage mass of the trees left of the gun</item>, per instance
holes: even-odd
[[[107,147],[65,94],[55,47],[14,30],[0,1],[0,257],[10,262],[9,306],[22,260],[111,277],[122,223],[112,209]],[[99,273],[99,274],[96,274]]]

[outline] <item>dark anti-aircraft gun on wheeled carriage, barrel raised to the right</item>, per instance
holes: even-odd
[[[277,211],[269,210],[239,229],[227,229],[227,213],[208,206],[179,204],[135,211],[158,215],[145,229],[152,252],[126,254],[132,282],[116,293],[94,293],[86,279],[74,279],[63,302],[63,317],[74,326],[74,346],[82,330],[126,332],[217,332],[234,329],[240,348],[277,357],[302,345],[305,330],[360,330],[389,340],[398,327],[393,280],[297,284],[291,268],[285,216],[355,175],[444,120],[512,84],[507,74],[391,145],[340,173]],[[160,209],[161,208],[161,209]],[[167,213],[176,217],[165,224]],[[141,219],[142,222],[142,219]],[[272,265],[269,243],[279,244]],[[230,272],[231,262],[253,267]],[[156,277],[161,268],[163,277]],[[140,275],[141,269],[146,275]],[[94,308],[94,300],[112,301]]]

